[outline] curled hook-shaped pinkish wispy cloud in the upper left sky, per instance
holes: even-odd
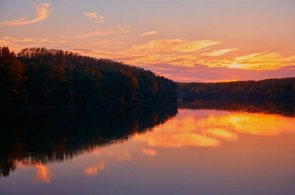
[[[35,19],[26,21],[28,17],[23,17],[17,20],[0,22],[0,25],[3,25],[3,26],[29,25],[29,24],[33,24],[33,23],[40,22],[42,20],[47,19],[49,15],[52,13],[52,9],[49,9],[50,3],[39,3],[39,4],[33,3],[33,6],[37,9],[37,17]]]

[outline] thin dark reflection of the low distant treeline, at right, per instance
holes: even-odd
[[[194,102],[178,102],[178,109],[212,109],[221,111],[261,112],[295,116],[295,102],[290,101],[238,101],[238,100],[196,100]]]

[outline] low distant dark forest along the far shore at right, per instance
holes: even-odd
[[[295,99],[295,78],[177,85],[178,98]]]

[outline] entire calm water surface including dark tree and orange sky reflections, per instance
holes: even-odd
[[[294,111],[209,101],[5,123],[0,194],[295,195]]]

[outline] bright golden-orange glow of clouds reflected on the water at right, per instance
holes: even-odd
[[[214,147],[220,146],[222,141],[236,141],[238,133],[259,136],[295,133],[295,118],[276,114],[178,111],[180,116],[154,127],[153,131],[144,135],[135,135],[132,139],[158,147]]]

